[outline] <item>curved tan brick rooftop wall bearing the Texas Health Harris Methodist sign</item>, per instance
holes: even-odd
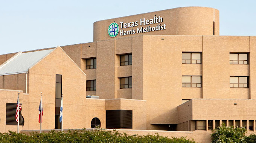
[[[146,22],[147,19],[148,22]],[[112,22],[119,25],[119,33],[115,37],[110,37],[108,34],[108,28]],[[215,24],[213,24],[214,22]],[[131,27],[128,25],[131,25]],[[151,29],[149,27],[151,27]],[[153,30],[153,27],[158,30]],[[143,34],[219,35],[219,10],[210,7],[179,7],[96,21],[93,24],[93,41],[138,36]]]

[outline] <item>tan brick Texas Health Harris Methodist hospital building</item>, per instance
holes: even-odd
[[[41,92],[43,130],[61,128],[62,93],[64,129],[157,130],[198,142],[222,123],[256,130],[256,36],[219,36],[215,8],[96,21],[93,42],[4,54],[0,64],[1,133],[17,131],[18,91],[21,132],[40,129]]]

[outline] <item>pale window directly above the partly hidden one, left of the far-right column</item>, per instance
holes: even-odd
[[[182,87],[201,87],[201,76],[182,76]]]

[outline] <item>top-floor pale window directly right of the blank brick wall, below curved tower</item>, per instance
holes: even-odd
[[[201,53],[182,53],[183,64],[201,64]]]

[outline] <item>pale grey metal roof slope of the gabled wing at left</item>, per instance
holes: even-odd
[[[38,61],[46,57],[53,50],[54,49],[27,53],[18,52],[0,66],[0,76],[26,73],[30,67],[34,66]]]

